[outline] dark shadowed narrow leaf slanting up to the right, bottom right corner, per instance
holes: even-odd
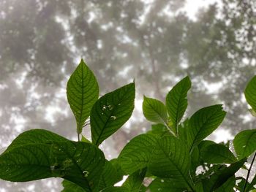
[[[210,179],[203,180],[203,188],[204,191],[215,191],[223,184],[233,177],[235,173],[244,165],[246,158],[242,159],[241,161],[237,161],[236,163],[230,164],[230,166],[225,167],[223,169],[219,169],[219,171],[214,172],[211,174]]]

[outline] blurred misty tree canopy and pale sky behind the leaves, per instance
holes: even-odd
[[[66,85],[80,58],[101,96],[136,82],[132,118],[101,146],[107,158],[150,128],[143,95],[165,101],[186,75],[186,115],[224,104],[227,118],[210,139],[232,139],[255,128],[243,94],[256,74],[255,34],[254,0],[0,0],[0,152],[31,128],[76,139]],[[61,191],[61,179],[1,180],[6,191]]]

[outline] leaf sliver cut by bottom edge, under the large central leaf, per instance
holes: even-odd
[[[177,192],[184,191],[187,188],[183,184],[177,183],[176,180],[170,178],[159,178],[157,177],[152,183],[148,186],[151,192]]]

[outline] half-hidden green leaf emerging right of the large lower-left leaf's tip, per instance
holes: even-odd
[[[104,171],[102,172],[102,176],[99,181],[99,189],[108,188],[119,181],[119,175],[110,161],[105,162]]]

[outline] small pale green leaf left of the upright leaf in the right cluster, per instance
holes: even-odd
[[[167,110],[165,104],[157,99],[151,99],[144,96],[143,114],[147,120],[154,123],[165,124],[167,122]]]

